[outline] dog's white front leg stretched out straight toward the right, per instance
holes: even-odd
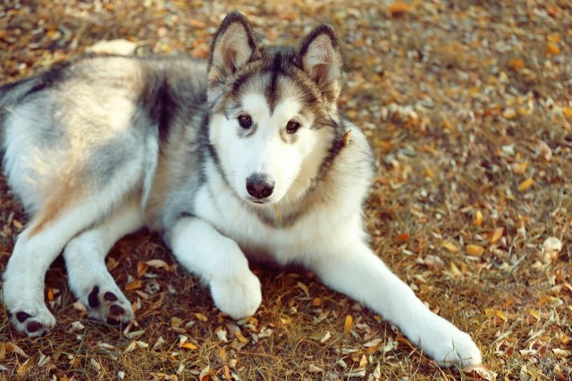
[[[471,337],[427,309],[365,243],[346,248],[311,264],[325,284],[399,326],[438,364],[465,367],[481,362],[481,352]]]

